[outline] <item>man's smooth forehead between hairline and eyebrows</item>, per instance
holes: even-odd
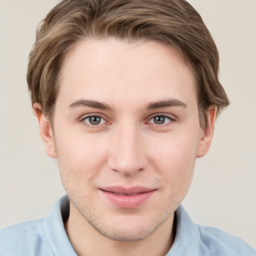
[[[118,104],[139,97],[146,104],[163,97],[196,97],[195,87],[189,66],[174,47],[156,41],[84,40],[65,56],[58,98],[69,103],[115,99]]]

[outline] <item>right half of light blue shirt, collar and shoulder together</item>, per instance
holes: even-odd
[[[176,235],[168,256],[256,256],[242,239],[218,228],[195,224],[182,205],[175,211]]]

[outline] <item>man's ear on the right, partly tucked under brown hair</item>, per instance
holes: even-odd
[[[210,144],[211,144],[211,140],[214,132],[214,126],[215,126],[216,110],[217,110],[216,106],[211,106],[206,111],[207,126],[205,127],[204,130],[202,128],[200,130],[197,153],[196,153],[197,158],[204,156],[210,148]]]

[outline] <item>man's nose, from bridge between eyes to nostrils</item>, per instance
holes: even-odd
[[[141,131],[133,125],[120,125],[112,135],[108,166],[124,176],[142,171],[148,164]]]

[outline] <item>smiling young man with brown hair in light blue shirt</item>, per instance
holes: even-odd
[[[1,231],[2,255],[256,255],[180,205],[228,105],[218,53],[184,0],[64,0],[27,82],[67,197]]]

